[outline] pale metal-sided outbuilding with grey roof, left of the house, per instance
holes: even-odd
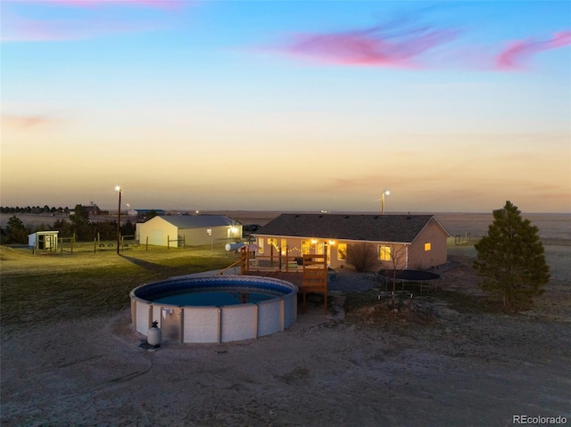
[[[236,242],[242,237],[242,225],[224,215],[167,215],[136,226],[141,244],[175,248]]]

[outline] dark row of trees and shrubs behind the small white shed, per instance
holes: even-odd
[[[6,227],[1,229],[0,242],[2,244],[26,244],[28,234],[48,230],[59,231],[60,237],[72,237],[75,234],[77,242],[93,242],[97,235],[101,240],[117,238],[117,219],[92,222],[89,220],[86,209],[81,205],[76,205],[72,212],[69,221],[61,218],[57,219],[53,226],[41,224],[34,229],[25,226],[20,218],[13,216],[8,219]],[[130,220],[120,226],[121,235],[134,235],[135,233],[136,226]]]

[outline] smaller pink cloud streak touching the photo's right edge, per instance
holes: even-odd
[[[552,38],[543,41],[517,40],[498,54],[495,66],[497,70],[521,69],[522,62],[535,53],[567,45],[571,45],[571,31],[556,33]]]

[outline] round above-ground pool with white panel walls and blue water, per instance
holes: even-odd
[[[297,286],[271,277],[167,279],[129,296],[133,328],[146,335],[156,321],[165,341],[248,340],[283,331],[297,317]]]

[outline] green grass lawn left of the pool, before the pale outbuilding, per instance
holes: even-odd
[[[222,245],[187,249],[37,253],[0,246],[0,321],[11,326],[102,316],[129,307],[136,286],[228,267],[237,255]]]

